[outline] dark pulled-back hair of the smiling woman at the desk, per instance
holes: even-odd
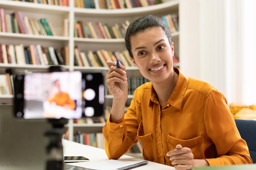
[[[130,37],[153,27],[162,27],[171,44],[171,32],[163,20],[153,15],[146,15],[131,22],[126,30],[125,45],[130,57],[133,58]]]

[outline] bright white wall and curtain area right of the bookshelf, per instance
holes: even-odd
[[[256,1],[180,0],[180,63],[229,103],[256,103]]]

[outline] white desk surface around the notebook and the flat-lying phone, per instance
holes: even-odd
[[[64,156],[83,156],[90,159],[89,162],[78,162],[78,163],[69,163],[70,165],[79,166],[84,165],[85,163],[97,163],[101,161],[108,160],[105,150],[100,148],[95,148],[88,145],[79,144],[73,141],[69,141],[66,139],[62,139],[63,144],[63,155]],[[129,160],[129,161],[138,161],[142,159],[130,157],[127,155],[123,155],[120,160]],[[172,166],[166,166],[160,163],[155,163],[148,161],[146,166],[141,166],[138,168],[134,168],[134,170],[175,170]]]

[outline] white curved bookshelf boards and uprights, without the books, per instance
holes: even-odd
[[[85,9],[74,7],[74,1],[70,0],[70,6],[63,7],[58,5],[37,4],[31,2],[20,2],[13,0],[0,1],[0,7],[5,13],[13,11],[22,12],[23,16],[39,20],[44,17],[52,23],[56,36],[48,35],[29,35],[21,33],[6,33],[0,32],[0,43],[2,44],[41,44],[43,46],[53,46],[61,49],[63,46],[68,46],[69,56],[74,56],[74,47],[79,46],[80,50],[90,49],[92,51],[106,49],[109,51],[124,51],[124,39],[102,39],[102,38],[76,38],[74,37],[74,22],[82,20],[83,22],[102,22],[114,25],[116,23],[124,23],[126,20],[132,21],[139,16],[145,14],[153,14],[162,17],[166,14],[179,14],[180,0],[162,0],[162,4],[151,5],[148,7],[136,7],[127,9],[99,9],[99,1],[95,0],[96,9]],[[62,36],[63,20],[68,19],[68,35]],[[179,56],[179,33],[172,33],[173,42],[175,43],[175,54]],[[107,67],[89,67],[89,66],[74,66],[74,57],[69,57],[68,64],[63,66],[68,71],[82,72],[107,72]],[[31,64],[3,64],[0,63],[0,74],[4,74],[5,70],[10,68],[14,73],[24,71],[41,71],[46,72],[48,66],[31,65]],[[128,77],[141,76],[139,70],[135,66],[126,68]],[[127,104],[130,103],[132,95],[128,96]],[[12,101],[12,95],[0,95],[0,102]],[[112,97],[106,95],[106,106],[111,106]],[[66,128],[68,129],[68,139],[73,141],[73,134],[77,130],[86,132],[101,132],[104,124],[75,124],[73,120],[69,120]]]

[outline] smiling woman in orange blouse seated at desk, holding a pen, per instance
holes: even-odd
[[[125,66],[107,62],[106,84],[113,103],[103,135],[109,159],[118,159],[140,140],[144,159],[177,170],[252,163],[222,93],[173,67],[174,44],[160,18],[135,20],[125,41],[132,62],[150,82],[135,90],[124,114]]]

